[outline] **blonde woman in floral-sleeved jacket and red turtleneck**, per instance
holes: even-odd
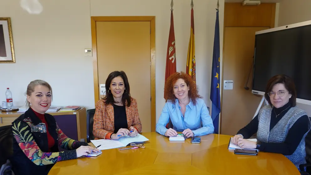
[[[51,106],[52,88],[49,83],[34,80],[27,87],[26,106],[29,109],[12,123],[15,175],[48,174],[56,162],[98,152],[85,142],[68,138],[52,115],[45,112]],[[68,151],[59,152],[58,146]]]

